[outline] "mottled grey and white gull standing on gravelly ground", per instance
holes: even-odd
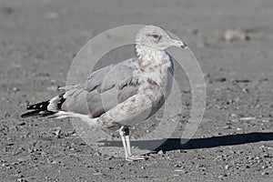
[[[166,49],[187,48],[187,45],[156,25],[142,27],[135,43],[135,57],[98,69],[79,84],[60,87],[65,90],[63,94],[27,106],[32,111],[22,117],[76,117],[89,126],[119,128],[126,160],[147,159],[145,155],[132,155],[129,128],[145,121],[164,105],[174,75],[174,65]]]

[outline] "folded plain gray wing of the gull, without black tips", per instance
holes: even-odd
[[[136,94],[138,83],[133,72],[137,70],[133,59],[97,70],[86,81],[66,87],[62,110],[101,116]]]

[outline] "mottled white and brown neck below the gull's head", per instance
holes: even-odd
[[[136,45],[135,49],[139,65],[142,67],[173,66],[172,60],[165,50],[159,50],[148,45]]]

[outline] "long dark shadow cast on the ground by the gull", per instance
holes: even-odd
[[[220,146],[235,146],[270,140],[273,140],[273,132],[254,132],[247,134],[211,136],[206,138],[193,139],[167,138],[158,140],[139,140],[132,141],[131,145],[139,147],[140,149],[147,149],[150,151],[158,152],[160,150],[171,151],[177,149],[198,149]],[[100,141],[100,143],[102,143],[104,147],[122,147],[122,143],[119,141]]]

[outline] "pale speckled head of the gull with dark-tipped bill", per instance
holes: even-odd
[[[170,46],[187,48],[183,41],[173,39],[166,30],[156,25],[146,25],[136,35],[136,45],[145,45],[157,50],[165,50]]]

